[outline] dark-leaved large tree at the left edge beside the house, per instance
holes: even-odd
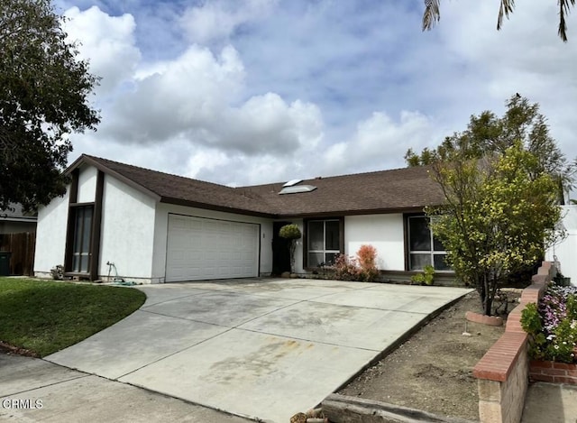
[[[78,60],[50,0],[0,1],[0,208],[62,195],[70,133],[96,129],[98,80]]]

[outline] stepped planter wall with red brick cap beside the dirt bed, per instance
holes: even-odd
[[[529,383],[527,334],[521,328],[521,312],[528,303],[539,302],[554,273],[553,263],[543,262],[531,285],[523,290],[519,305],[509,313],[505,334],[473,369],[472,374],[478,379],[481,423],[521,420]]]

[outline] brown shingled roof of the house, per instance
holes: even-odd
[[[68,172],[83,163],[96,166],[160,202],[229,211],[243,215],[343,216],[422,210],[442,202],[442,193],[426,167],[309,179],[312,192],[279,195],[283,183],[230,188],[197,179],[143,169],[83,154]]]

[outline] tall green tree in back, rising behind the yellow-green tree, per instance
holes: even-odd
[[[563,200],[563,189],[573,187],[577,161],[567,161],[549,134],[545,115],[539,112],[537,103],[515,94],[508,98],[505,106],[507,110],[502,116],[490,111],[472,115],[465,131],[445,137],[435,149],[425,148],[419,153],[408,149],[405,154],[408,166],[452,161],[455,155],[461,160],[481,159],[486,155],[503,154],[520,142],[527,152],[536,156],[535,168],[529,175],[536,177],[544,171],[548,173],[557,182],[557,193]]]

